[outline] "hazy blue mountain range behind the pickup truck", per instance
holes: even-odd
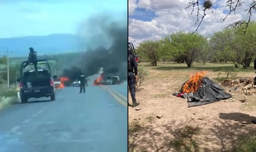
[[[28,56],[30,47],[39,55],[85,51],[80,46],[78,36],[72,34],[0,38],[0,56],[7,54],[7,48],[10,57]]]

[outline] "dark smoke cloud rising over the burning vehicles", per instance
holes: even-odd
[[[71,80],[83,70],[86,77],[98,74],[119,75],[127,79],[127,19],[114,19],[112,14],[98,14],[81,23],[78,30],[81,58],[72,67],[63,70]]]

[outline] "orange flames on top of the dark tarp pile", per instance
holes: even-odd
[[[190,79],[182,87],[184,93],[194,93],[198,91],[198,87],[202,86],[202,79],[206,75],[205,71],[190,74]]]

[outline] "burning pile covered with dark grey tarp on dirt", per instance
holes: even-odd
[[[188,99],[188,107],[201,106],[232,97],[213,80],[204,77],[205,74],[206,72],[197,72],[190,75],[190,79],[183,83],[180,92],[173,95]]]

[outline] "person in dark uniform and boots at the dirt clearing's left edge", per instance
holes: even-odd
[[[135,74],[135,75],[134,75]],[[138,69],[137,62],[135,61],[132,51],[128,47],[128,85],[130,95],[132,96],[132,107],[138,106],[135,98],[135,79],[137,79]]]

